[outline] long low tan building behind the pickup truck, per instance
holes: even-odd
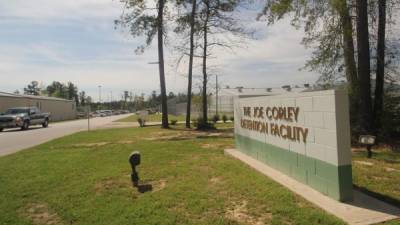
[[[13,107],[36,106],[42,112],[51,113],[52,121],[76,118],[75,101],[46,96],[19,95],[0,92],[0,112]]]

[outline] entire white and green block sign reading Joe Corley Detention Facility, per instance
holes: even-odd
[[[352,199],[346,91],[239,98],[234,107],[239,151],[333,199]]]

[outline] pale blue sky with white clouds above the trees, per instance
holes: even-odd
[[[0,0],[0,91],[22,91],[35,80],[43,86],[71,81],[95,101],[99,86],[103,100],[121,98],[124,90],[159,92],[158,66],[149,64],[158,61],[157,43],[135,54],[143,39],[114,26],[122,9],[119,0]],[[233,52],[213,53],[210,65],[217,68],[212,73],[218,74],[219,84],[266,88],[315,82],[318,74],[299,70],[310,55],[300,44],[302,31],[287,20],[267,26],[256,15],[257,10],[246,11],[240,18],[256,29],[256,39]],[[176,58],[167,46],[167,91],[186,92],[182,74],[187,65],[176,69]]]

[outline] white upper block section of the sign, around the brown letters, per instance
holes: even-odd
[[[351,164],[348,95],[344,90],[303,92],[268,97],[235,100],[235,132],[327,163],[341,166]],[[299,107],[297,122],[260,121],[308,128],[308,137],[302,141],[285,140],[240,126],[243,107]],[[259,120],[251,118],[252,120]]]

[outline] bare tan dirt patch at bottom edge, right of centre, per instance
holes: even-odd
[[[272,214],[270,213],[267,213],[259,218],[249,215],[247,209],[247,201],[233,204],[233,207],[227,210],[225,216],[239,223],[251,225],[265,225],[263,221],[270,220],[272,218]]]

